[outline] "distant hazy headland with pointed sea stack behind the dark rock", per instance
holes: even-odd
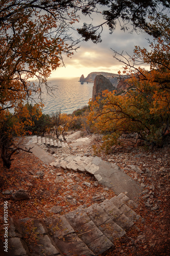
[[[103,75],[104,77],[106,77],[111,83],[112,85],[117,88],[117,84],[119,82],[119,75],[118,74],[114,74],[114,73],[108,73],[108,72],[91,72],[90,74],[88,74],[88,76],[86,78],[84,78],[84,75],[82,75],[80,77],[80,79],[83,79],[83,82],[94,82],[94,79],[97,75]],[[82,81],[82,80],[80,80]]]

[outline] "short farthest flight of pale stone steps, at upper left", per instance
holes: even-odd
[[[53,146],[53,147],[69,147],[66,141],[60,141],[59,139],[54,140],[54,139],[49,139],[46,137],[41,137],[41,136],[32,136],[32,143],[37,143],[37,144],[45,144],[46,146]]]

